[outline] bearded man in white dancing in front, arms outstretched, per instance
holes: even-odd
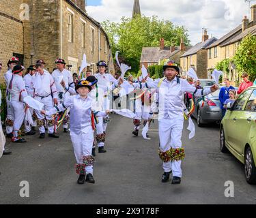
[[[218,89],[213,85],[207,89],[196,89],[186,80],[178,78],[180,68],[173,61],[169,61],[163,67],[165,78],[141,84],[142,88],[158,89],[159,102],[159,157],[163,161],[162,183],[169,181],[173,173],[172,184],[180,184],[182,178],[182,159],[185,157],[182,148],[182,130],[184,123],[184,93],[193,93],[196,97],[208,95]],[[145,80],[143,80],[145,82]],[[139,84],[135,84],[139,87]]]

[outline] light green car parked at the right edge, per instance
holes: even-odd
[[[221,152],[230,151],[244,163],[246,181],[256,184],[256,87],[246,89],[221,121]]]

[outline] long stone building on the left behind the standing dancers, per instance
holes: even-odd
[[[13,55],[25,67],[44,59],[50,72],[55,59],[61,57],[72,65],[71,72],[79,72],[84,53],[93,72],[99,60],[107,61],[109,72],[114,72],[109,38],[100,23],[86,13],[84,0],[0,1],[3,72]]]

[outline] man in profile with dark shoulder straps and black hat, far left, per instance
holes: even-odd
[[[25,82],[23,80],[23,70],[24,67],[21,65],[16,65],[12,70],[12,79],[9,83],[10,92],[10,107],[14,112],[14,131],[12,133],[12,142],[24,143],[26,140],[21,138],[20,127],[25,119],[25,104],[23,99],[27,97],[27,91],[25,88]]]

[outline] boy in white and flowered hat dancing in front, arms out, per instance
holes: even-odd
[[[68,97],[63,104],[59,104],[50,111],[42,111],[42,114],[50,116],[70,108],[70,137],[76,156],[76,173],[79,174],[77,183],[95,183],[93,177],[94,157],[91,150],[94,144],[95,116],[106,116],[106,112],[94,112],[93,99],[88,96],[91,91],[91,82],[81,80],[76,85],[79,95]],[[85,178],[86,177],[86,178]]]

